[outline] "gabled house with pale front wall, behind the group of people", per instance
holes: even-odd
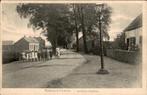
[[[24,36],[14,44],[14,47],[16,53],[26,51],[39,51],[39,42],[34,37]]]

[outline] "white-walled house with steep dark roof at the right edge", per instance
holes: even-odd
[[[129,25],[124,29],[125,43],[128,50],[131,48],[141,48],[142,45],[142,14],[137,16]]]

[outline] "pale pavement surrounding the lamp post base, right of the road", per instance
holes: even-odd
[[[61,88],[131,88],[141,87],[141,67],[104,57],[109,74],[100,75],[100,57],[84,55],[87,62],[61,80],[51,82],[49,87]],[[58,83],[57,83],[58,82]]]

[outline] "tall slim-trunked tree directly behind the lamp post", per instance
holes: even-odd
[[[103,8],[101,11],[97,10],[97,8],[100,8],[100,6],[97,6],[96,4],[79,4],[78,13],[80,17],[81,22],[81,28],[83,33],[83,43],[84,43],[84,50],[85,53],[88,52],[87,50],[87,42],[86,38],[88,35],[94,34],[92,31],[94,27],[97,27],[99,29],[99,16],[101,15],[103,18],[101,21],[102,24],[102,31],[103,36],[107,39],[109,39],[108,35],[108,29],[109,24],[111,23],[111,13],[112,9],[107,5],[103,4]],[[96,32],[96,31],[95,31]],[[99,33],[97,33],[100,35]]]

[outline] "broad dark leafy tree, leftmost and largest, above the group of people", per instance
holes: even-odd
[[[29,26],[33,29],[42,29],[54,53],[58,45],[67,44],[70,37],[67,35],[72,35],[73,25],[69,21],[67,4],[19,4],[17,12],[20,17],[29,18]]]

